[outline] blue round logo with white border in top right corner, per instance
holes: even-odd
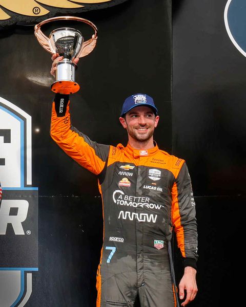
[[[228,0],[224,9],[224,24],[234,46],[246,57],[246,1]]]

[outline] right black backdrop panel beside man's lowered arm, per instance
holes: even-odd
[[[172,149],[196,196],[199,307],[243,304],[246,58],[224,26],[227,2],[172,2]]]

